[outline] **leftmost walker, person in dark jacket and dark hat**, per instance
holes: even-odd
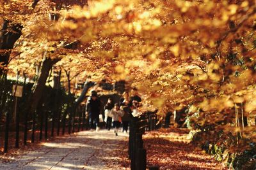
[[[96,131],[99,131],[100,104],[97,92],[93,90],[86,102],[86,115],[89,115],[90,127],[92,129],[95,122]]]

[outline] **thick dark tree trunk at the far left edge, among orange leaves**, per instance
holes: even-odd
[[[3,25],[0,27],[0,50],[5,50],[0,53],[0,63],[7,66],[11,50],[20,38],[22,26],[20,24],[10,24],[8,20],[4,20]],[[3,68],[0,67],[0,75],[3,74]]]

